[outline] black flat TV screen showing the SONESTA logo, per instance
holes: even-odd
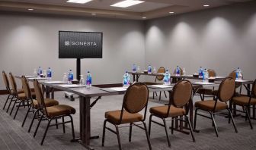
[[[102,33],[59,31],[59,58],[102,58]]]

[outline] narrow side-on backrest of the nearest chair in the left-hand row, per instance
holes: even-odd
[[[35,79],[34,79],[33,83],[34,83],[34,91],[36,93],[38,106],[39,106],[39,108],[45,109],[46,105],[44,103],[43,92],[42,92],[40,83],[38,82],[38,80],[35,80]],[[45,109],[45,111],[46,111],[46,109]],[[46,112],[46,115],[47,115],[47,112]]]

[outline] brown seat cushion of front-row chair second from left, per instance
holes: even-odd
[[[168,106],[157,106],[149,109],[151,114],[155,114],[158,117],[166,117]],[[176,108],[171,105],[168,117],[177,117],[186,114],[184,108]]]

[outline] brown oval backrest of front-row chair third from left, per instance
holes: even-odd
[[[235,80],[226,77],[219,85],[218,98],[220,102],[228,102],[235,93]]]

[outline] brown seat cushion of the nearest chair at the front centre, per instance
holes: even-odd
[[[110,123],[119,124],[121,111],[107,111],[105,112],[105,118],[110,121]],[[143,116],[139,113],[130,114],[127,111],[123,111],[123,117],[121,124],[124,123],[134,123],[143,120]]]

